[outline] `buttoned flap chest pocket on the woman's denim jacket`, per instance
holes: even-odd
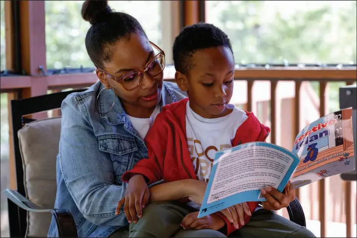
[[[99,149],[110,154],[117,185],[122,185],[121,176],[129,168],[133,153],[137,150],[135,139],[123,135],[98,137]]]

